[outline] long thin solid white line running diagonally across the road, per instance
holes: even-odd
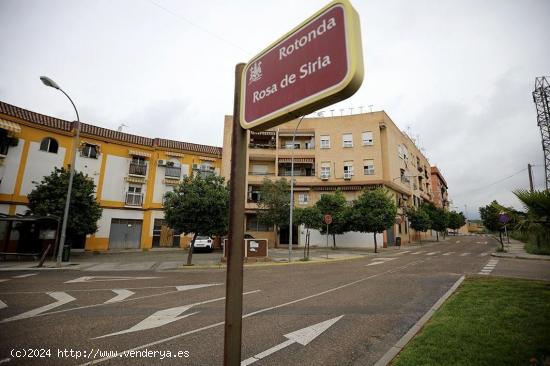
[[[282,304],[279,304],[279,305],[274,305],[274,306],[270,306],[270,307],[267,307],[267,308],[264,308],[264,309],[260,309],[260,310],[256,310],[256,311],[253,311],[251,313],[248,313],[246,315],[243,315],[243,319],[245,318],[249,318],[251,316],[254,316],[254,315],[257,315],[257,314],[261,314],[261,313],[265,313],[265,312],[268,312],[268,311],[271,311],[271,310],[275,310],[275,309],[278,309],[278,308],[282,308],[282,307],[285,307],[285,306],[289,306],[289,305],[292,305],[292,304],[296,304],[298,302],[302,302],[302,301],[306,301],[306,300],[309,300],[309,299],[312,299],[312,298],[315,298],[315,297],[319,297],[319,296],[322,296],[322,295],[326,295],[326,294],[329,294],[329,293],[332,293],[334,291],[338,291],[338,290],[341,290],[343,288],[346,288],[346,287],[349,287],[349,286],[353,286],[355,284],[358,284],[358,283],[361,283],[361,282],[364,282],[366,280],[370,280],[371,278],[375,278],[375,277],[379,277],[379,276],[383,276],[383,275],[386,275],[388,273],[394,273],[396,272],[397,270],[399,269],[403,269],[403,268],[407,268],[411,265],[414,265],[414,264],[418,264],[418,263],[422,263],[424,262],[423,260],[418,260],[418,261],[415,261],[415,262],[410,262],[408,264],[405,264],[401,267],[397,267],[397,268],[394,268],[394,269],[391,269],[391,270],[387,270],[387,271],[384,271],[384,272],[379,272],[379,273],[375,273],[373,275],[370,275],[370,276],[367,276],[367,277],[363,277],[363,278],[360,278],[358,280],[355,280],[355,281],[352,281],[352,282],[348,282],[348,283],[345,283],[343,285],[340,285],[340,286],[337,286],[337,287],[333,287],[333,288],[330,288],[328,290],[325,290],[325,291],[322,291],[322,292],[318,292],[318,293],[315,293],[313,295],[309,295],[309,296],[305,296],[305,297],[302,297],[302,298],[299,298],[299,299],[296,299],[296,300],[292,300],[292,301],[288,301],[288,302],[285,302],[285,303],[282,303]],[[259,291],[259,290],[258,290]],[[245,294],[243,294],[245,295]],[[202,332],[204,330],[208,330],[208,329],[212,329],[212,328],[216,328],[216,327],[219,327],[219,326],[222,326],[224,325],[225,322],[217,322],[217,323],[213,323],[213,324],[210,324],[210,325],[206,325],[204,327],[201,327],[201,328],[197,328],[197,329],[193,329],[193,330],[190,330],[190,331],[187,331],[187,332],[184,332],[184,333],[179,333],[179,334],[176,334],[176,335],[173,335],[173,336],[170,336],[170,337],[166,337],[166,338],[163,338],[163,339],[159,339],[159,340],[156,340],[156,341],[153,341],[153,342],[149,342],[147,344],[142,344],[140,346],[136,346],[134,348],[130,348],[130,349],[127,349],[127,350],[124,350],[124,351],[120,351],[118,352],[118,354],[122,354],[124,352],[128,353],[128,352],[132,352],[132,351],[139,351],[140,349],[144,349],[144,348],[150,348],[152,346],[156,346],[158,344],[163,344],[163,343],[166,343],[166,342],[169,342],[169,341],[172,341],[174,339],[178,339],[178,338],[181,338],[181,337],[185,337],[187,335],[190,335],[190,334],[195,334],[195,333],[199,333],[199,332]],[[114,358],[116,356],[107,356],[107,357],[103,357],[103,358],[98,358],[98,359],[95,359],[93,361],[89,361],[89,362],[86,362],[86,363],[83,363],[79,366],[89,366],[89,365],[97,365],[98,363],[102,363],[102,362],[105,362],[105,361],[108,361],[112,358]]]

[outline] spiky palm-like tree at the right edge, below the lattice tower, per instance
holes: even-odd
[[[550,191],[514,191],[527,215],[518,220],[520,230],[533,235],[536,246],[550,245]]]

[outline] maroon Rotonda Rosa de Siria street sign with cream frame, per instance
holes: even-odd
[[[359,16],[335,0],[248,62],[240,124],[265,130],[346,99],[362,81]]]

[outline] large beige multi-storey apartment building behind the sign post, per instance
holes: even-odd
[[[231,164],[232,116],[225,117],[222,175],[229,177]],[[395,225],[380,238],[385,246],[416,240],[421,235],[410,230],[406,207],[433,201],[431,168],[415,143],[384,111],[348,116],[305,118],[262,132],[248,132],[246,232],[276,243],[276,233],[258,221],[257,202],[264,178],[279,179],[291,174],[294,156],[296,207],[314,205],[323,194],[343,192],[348,201],[364,189],[385,187],[398,207]],[[280,243],[288,243],[288,229],[281,230]],[[294,243],[303,243],[303,230],[293,230]],[[430,234],[422,234],[423,237]],[[312,244],[324,245],[318,232]],[[374,246],[372,234],[347,233],[339,236],[340,246]]]

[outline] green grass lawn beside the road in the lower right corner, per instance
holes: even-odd
[[[469,278],[392,365],[550,362],[550,282]]]

